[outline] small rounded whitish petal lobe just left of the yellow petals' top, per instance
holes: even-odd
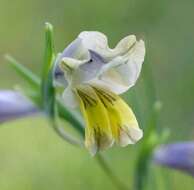
[[[69,108],[76,108],[79,105],[77,97],[70,86],[64,90],[62,95],[62,102]]]

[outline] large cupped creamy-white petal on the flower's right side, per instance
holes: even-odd
[[[118,56],[106,64],[93,83],[104,86],[116,94],[121,94],[137,81],[145,55],[144,42],[136,42],[123,56]]]

